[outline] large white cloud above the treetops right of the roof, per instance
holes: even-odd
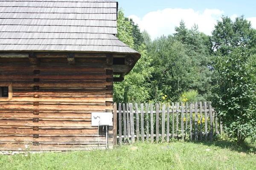
[[[224,11],[218,9],[205,9],[204,11],[194,11],[193,9],[166,8],[163,10],[152,11],[143,18],[131,15],[135,23],[141,30],[147,30],[154,40],[161,35],[175,33],[175,26],[179,26],[180,20],[184,20],[187,28],[191,28],[194,24],[198,24],[199,31],[205,34],[211,34],[217,20],[221,19]],[[232,16],[232,17],[235,17]]]

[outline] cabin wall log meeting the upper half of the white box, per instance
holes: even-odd
[[[38,115],[34,115],[31,113],[6,113],[0,112],[0,118],[29,118],[38,117],[39,119],[84,119],[90,121],[91,114],[90,113],[39,113]]]

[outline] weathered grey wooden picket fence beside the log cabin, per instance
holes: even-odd
[[[135,116],[134,116],[135,114]],[[113,105],[113,143],[207,141],[222,133],[211,102]],[[136,140],[135,140],[136,138]]]

